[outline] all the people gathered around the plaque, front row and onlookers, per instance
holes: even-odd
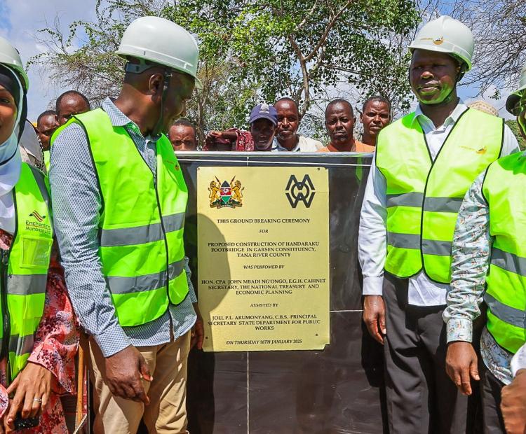
[[[498,113],[457,96],[473,44],[450,17],[424,25],[410,45],[417,109],[391,123],[389,100],[367,99],[361,141],[345,99],[325,109],[324,146],[298,134],[285,97],[257,104],[249,131],[211,131],[203,145],[375,153],[358,256],[363,319],[385,349],[391,433],[466,432],[472,380],[485,432],[526,430],[526,153]],[[116,54],[126,59],[116,98],[92,110],[70,90],[33,126],[29,78],[0,38],[0,433],[67,433],[59,398],[75,392],[84,332],[95,433],[136,433],[141,421],[187,433],[187,357],[204,331],[174,150],[196,151],[198,139],[173,120],[201,85],[198,45],[143,17]],[[506,109],[526,134],[526,65]]]

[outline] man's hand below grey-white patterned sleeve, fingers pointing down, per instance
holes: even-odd
[[[445,371],[463,395],[471,395],[471,378],[478,381],[478,358],[470,342],[451,342],[447,346]]]

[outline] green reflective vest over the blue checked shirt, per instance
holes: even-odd
[[[100,210],[100,262],[119,323],[141,325],[188,295],[183,227],[188,190],[168,138],[156,142],[151,172],[125,127],[102,109],[74,116],[86,131],[95,164]]]

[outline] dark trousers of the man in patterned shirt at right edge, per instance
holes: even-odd
[[[483,419],[485,434],[504,434],[504,420],[501,412],[501,391],[504,387],[497,377],[487,369],[482,360],[479,363],[481,394],[483,400]]]

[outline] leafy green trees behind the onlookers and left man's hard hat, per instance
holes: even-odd
[[[97,102],[119,90],[123,62],[112,52],[129,22],[142,15],[177,22],[200,45],[203,90],[188,117],[201,137],[243,127],[251,106],[283,95],[308,113],[342,83],[360,99],[381,93],[409,108],[406,45],[418,21],[412,0],[98,0],[96,11],[95,22],[74,22],[67,35],[43,29],[49,50],[33,63]]]

